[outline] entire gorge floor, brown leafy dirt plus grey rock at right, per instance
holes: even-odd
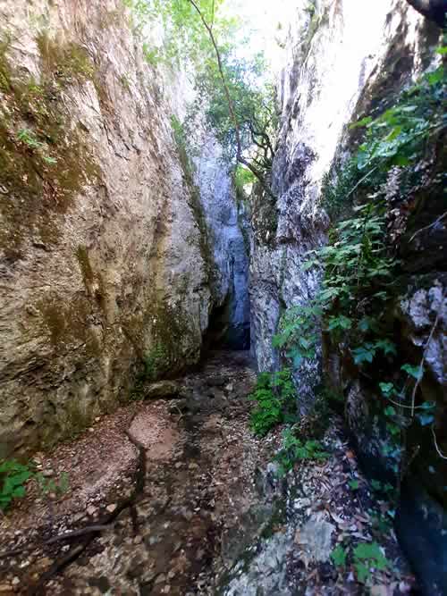
[[[254,381],[246,353],[216,353],[37,454],[46,491],[31,481],[0,520],[0,594],[410,592],[389,506],[373,498],[342,428],[325,433],[323,463],[279,478],[280,430],[262,440],[249,432]],[[371,541],[387,564],[369,562],[359,583],[353,549]]]

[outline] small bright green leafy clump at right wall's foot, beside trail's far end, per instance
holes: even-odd
[[[256,402],[250,416],[250,426],[255,434],[265,436],[277,424],[291,422],[296,412],[291,371],[284,369],[259,374],[249,399]]]

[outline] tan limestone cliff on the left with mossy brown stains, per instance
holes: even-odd
[[[230,281],[212,290],[207,197],[171,126],[179,83],[143,60],[121,0],[14,0],[0,18],[0,443],[10,452],[127,399],[142,362],[154,376],[197,362]]]

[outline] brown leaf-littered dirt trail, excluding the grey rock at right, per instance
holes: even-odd
[[[184,397],[122,408],[40,457],[55,477],[68,472],[71,489],[61,499],[31,490],[3,520],[0,551],[27,550],[0,558],[0,593],[214,593],[240,518],[259,509],[254,478],[274,448],[249,432],[254,382],[247,353],[216,353],[181,380]],[[92,525],[110,527],[43,543]]]

